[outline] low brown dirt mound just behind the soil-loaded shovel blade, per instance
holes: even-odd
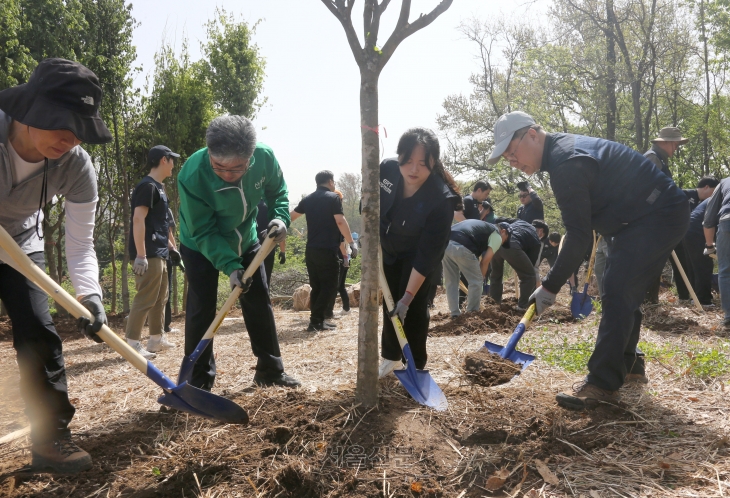
[[[522,318],[522,314],[514,310],[516,304],[514,298],[497,304],[491,298],[484,297],[479,312],[464,313],[456,318],[451,318],[448,313],[437,313],[431,319],[441,323],[428,333],[431,336],[484,334],[495,330],[511,333]]]

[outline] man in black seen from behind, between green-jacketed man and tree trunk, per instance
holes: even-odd
[[[357,255],[357,245],[352,239],[350,226],[342,214],[342,201],[335,194],[335,176],[331,171],[320,171],[314,177],[317,190],[306,196],[291,212],[292,221],[307,215],[307,248],[304,259],[309,274],[310,293],[309,332],[334,329],[334,323],[326,322],[325,315],[337,295],[339,282],[340,237]]]

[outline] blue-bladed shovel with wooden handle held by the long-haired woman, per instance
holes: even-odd
[[[383,255],[380,255],[380,288],[383,291],[383,300],[388,308],[388,311],[395,309],[395,303],[393,302],[393,296],[390,294],[388,288],[388,281],[385,279],[385,273],[383,272]],[[406,358],[406,368],[404,370],[394,370],[393,373],[398,380],[406,388],[408,394],[413,399],[418,401],[422,405],[430,406],[438,411],[446,410],[449,406],[449,402],[446,400],[441,388],[433,380],[428,370],[416,370],[416,363],[413,360],[413,353],[411,353],[411,347],[406,339],[406,333],[403,330],[403,325],[400,323],[400,318],[397,315],[390,317],[393,322],[393,328],[395,329],[395,335],[398,337],[398,343],[403,350],[403,356]]]

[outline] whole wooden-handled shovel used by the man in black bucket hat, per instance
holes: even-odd
[[[91,313],[81,303],[71,297],[23,253],[2,226],[0,226],[0,247],[5,250],[11,259],[11,261],[3,259],[4,262],[10,264],[24,277],[43,289],[71,315],[76,318],[84,316],[93,320]],[[122,340],[106,325],[102,325],[97,335],[132,366],[163,389],[165,394],[157,400],[159,403],[193,415],[220,420],[229,424],[248,423],[248,413],[233,401],[188,384],[175,385],[151,361],[144,359],[142,355],[132,349],[126,341]]]

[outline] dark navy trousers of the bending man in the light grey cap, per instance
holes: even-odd
[[[627,373],[644,373],[636,346],[641,329],[641,303],[649,285],[682,240],[689,224],[686,202],[660,209],[608,239],[603,274],[603,315],[596,347],[588,361],[589,383],[615,391]]]

